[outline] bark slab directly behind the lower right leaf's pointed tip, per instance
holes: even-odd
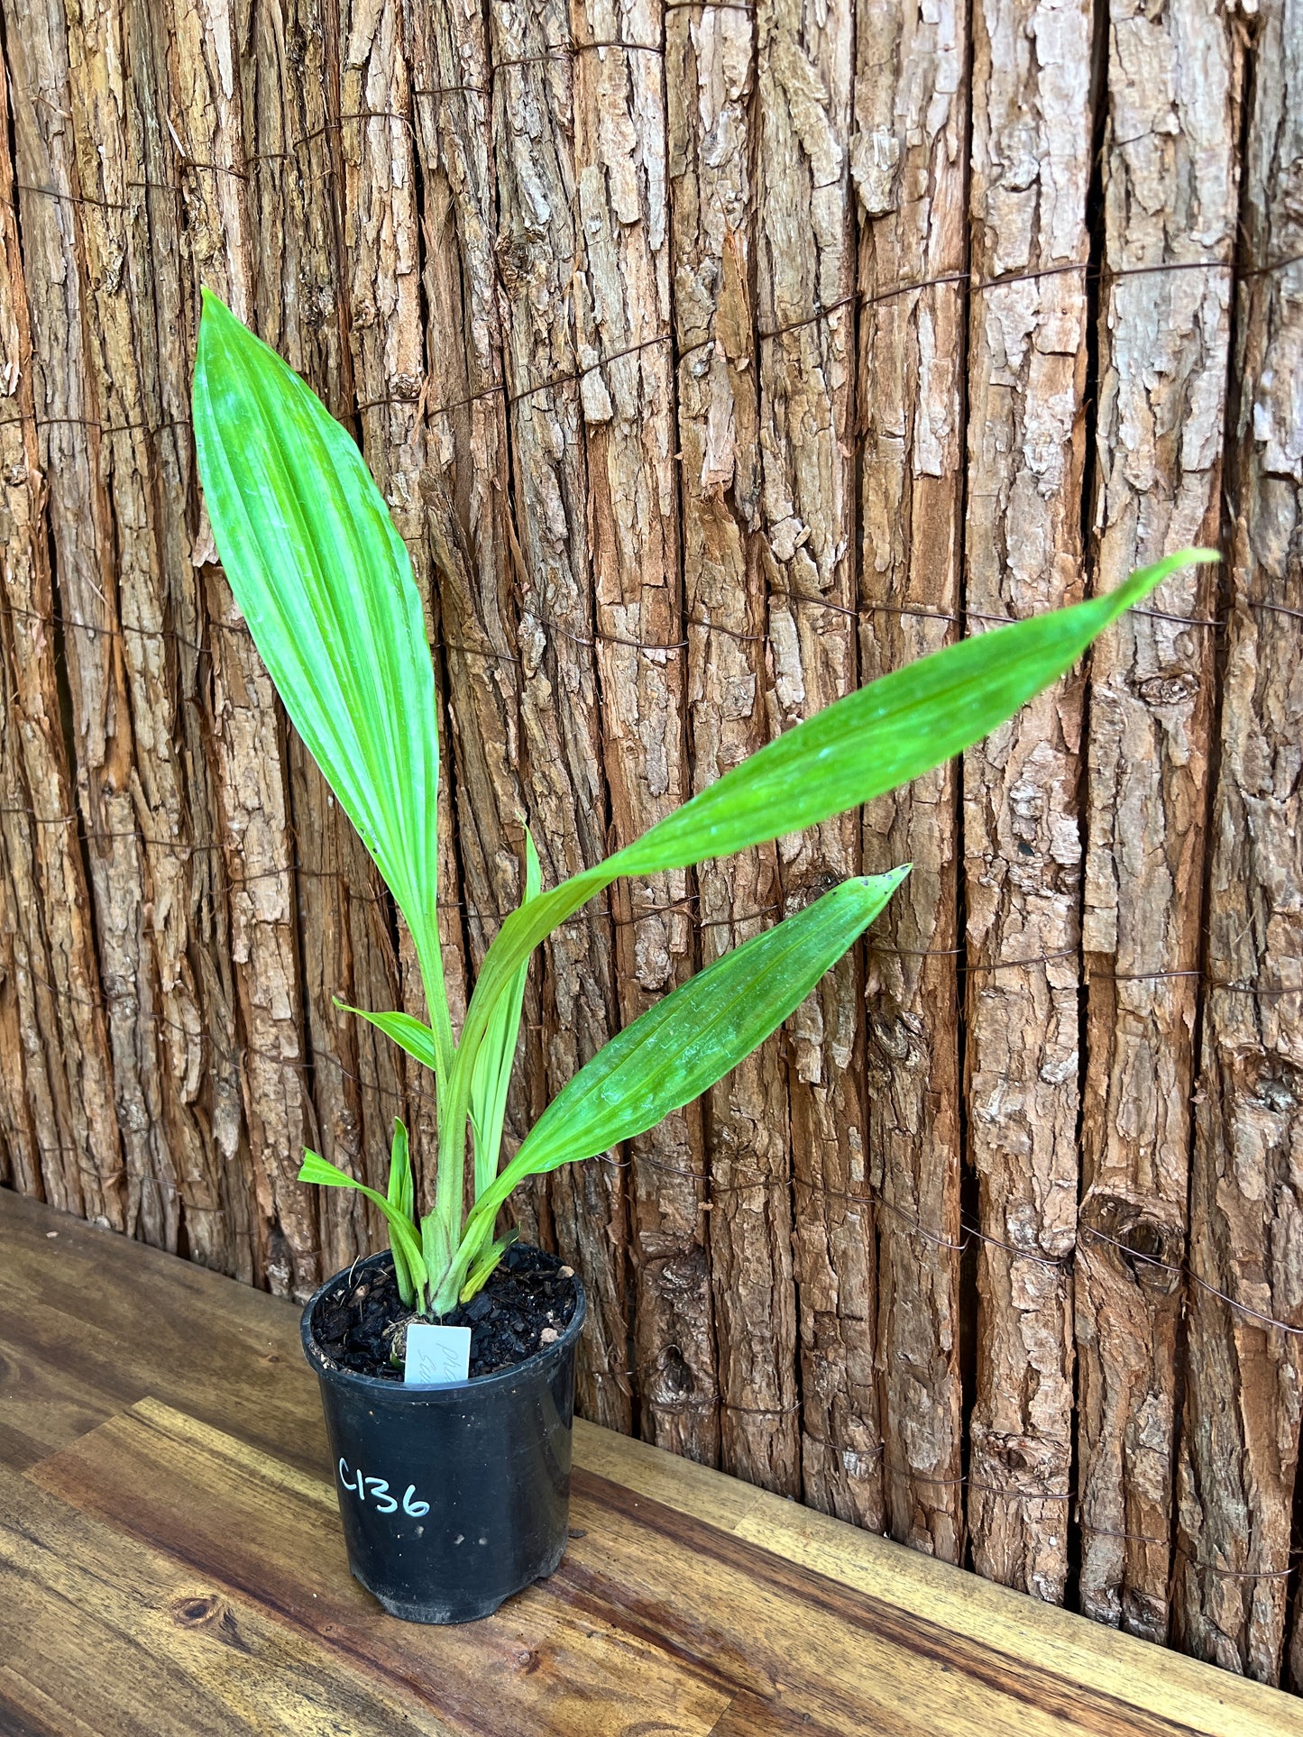
[[[966,7],[862,9],[851,174],[860,200],[860,679],[956,637],[968,261]],[[869,935],[869,1153],[877,1360],[893,1537],[962,1549],[959,1381],[957,778],[865,811],[863,867],[912,862]]]

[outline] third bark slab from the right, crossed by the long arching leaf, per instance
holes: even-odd
[[[1082,591],[1091,10],[973,30],[968,631]],[[980,1192],[968,1523],[980,1574],[1062,1602],[1077,1221],[1082,683],[964,759],[968,1131]]]

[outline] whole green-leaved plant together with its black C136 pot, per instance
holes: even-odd
[[[485,954],[455,1039],[436,921],[434,676],[407,549],[354,441],[208,292],[195,438],[231,591],[290,721],[412,931],[429,1011],[424,1023],[349,1009],[434,1073],[433,1211],[417,1218],[401,1122],[384,1195],[316,1153],[304,1155],[301,1171],[304,1181],[360,1188],[389,1226],[389,1251],[330,1278],[302,1324],[321,1381],[349,1562],[394,1615],[467,1621],[551,1574],[566,1541],[584,1294],[554,1258],[497,1233],[513,1188],[645,1133],[728,1073],[863,933],[909,865],[843,881],[665,995],[579,1070],[502,1166],[533,948],[617,875],[747,849],[940,764],[1070,669],[1178,566],[1216,556],[1169,556],[1108,596],[961,639],[883,676],[561,886],[540,886],[526,829],[525,896]],[[493,1337],[500,1296],[525,1324],[514,1337]],[[443,1384],[410,1379],[413,1346],[431,1325],[436,1336],[473,1329],[476,1360],[445,1370]],[[443,1339],[436,1350],[446,1350]]]

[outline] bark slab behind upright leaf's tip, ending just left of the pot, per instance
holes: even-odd
[[[160,108],[179,116],[179,155],[202,163],[172,174],[182,188],[186,294],[182,360],[195,346],[198,288],[210,285],[240,318],[257,323],[257,222],[248,170],[248,59],[235,57],[236,21],[222,0],[165,14],[170,85]],[[236,71],[241,76],[236,76]],[[280,172],[290,170],[280,165]],[[278,321],[280,325],[280,321]],[[195,486],[191,483],[191,486]],[[285,723],[274,690],[215,566],[207,523],[195,566],[212,648],[210,745],[219,837],[229,877],[229,957],[235,966],[243,1129],[228,1126],[228,1162],[248,1167],[254,1211],[250,1261],[259,1282],[302,1296],[321,1275],[316,1200],[297,1181],[302,1148],[316,1145],[299,955],[297,886]],[[226,1039],[231,1044],[231,1037]]]

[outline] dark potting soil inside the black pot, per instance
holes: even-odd
[[[516,1244],[485,1289],[469,1303],[459,1303],[443,1325],[471,1329],[471,1376],[492,1376],[559,1339],[577,1301],[570,1266],[542,1249]],[[412,1318],[386,1256],[375,1266],[346,1275],[321,1298],[313,1313],[313,1334],[341,1369],[401,1381],[403,1369],[391,1364],[389,1350],[398,1327]]]

